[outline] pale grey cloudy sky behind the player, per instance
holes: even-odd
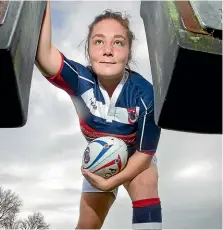
[[[93,18],[107,8],[131,14],[137,38],[133,68],[152,81],[139,1],[53,2],[54,44],[86,64],[80,43]],[[221,228],[221,141],[218,135],[162,131],[157,157],[164,228]],[[0,130],[0,185],[21,197],[22,217],[39,211],[51,228],[75,227],[85,147],[71,100],[35,68],[27,124]],[[121,187],[103,228],[130,229],[131,216],[131,201]]]

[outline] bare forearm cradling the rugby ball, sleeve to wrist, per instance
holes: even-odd
[[[118,174],[109,178],[112,188],[122,185],[126,181],[132,180],[139,173],[148,168],[151,163],[153,155],[145,154],[136,151],[132,157],[129,158],[126,167]]]

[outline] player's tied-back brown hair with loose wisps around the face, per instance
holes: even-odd
[[[131,31],[130,26],[129,26],[129,15],[122,16],[121,12],[113,12],[112,10],[105,10],[104,13],[98,15],[95,17],[94,21],[88,26],[88,36],[87,40],[85,43],[85,56],[87,57],[87,60],[89,61],[89,40],[94,28],[94,25],[96,25],[98,22],[103,21],[105,19],[114,19],[118,21],[126,30],[127,30],[127,35],[128,35],[128,40],[129,40],[129,59],[127,63],[127,68],[130,69],[129,67],[129,61],[132,60],[132,43],[135,40],[135,35]]]

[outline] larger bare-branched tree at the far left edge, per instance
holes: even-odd
[[[10,189],[0,187],[0,228],[14,228],[17,214],[22,206],[20,198]]]

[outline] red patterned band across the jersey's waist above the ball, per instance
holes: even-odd
[[[126,144],[133,144],[135,143],[135,140],[136,140],[136,133],[133,133],[130,135],[116,135],[112,133],[104,133],[104,132],[92,129],[82,119],[80,119],[80,126],[81,126],[82,133],[87,138],[98,138],[98,137],[111,136],[111,137],[122,139],[124,142],[126,142]]]

